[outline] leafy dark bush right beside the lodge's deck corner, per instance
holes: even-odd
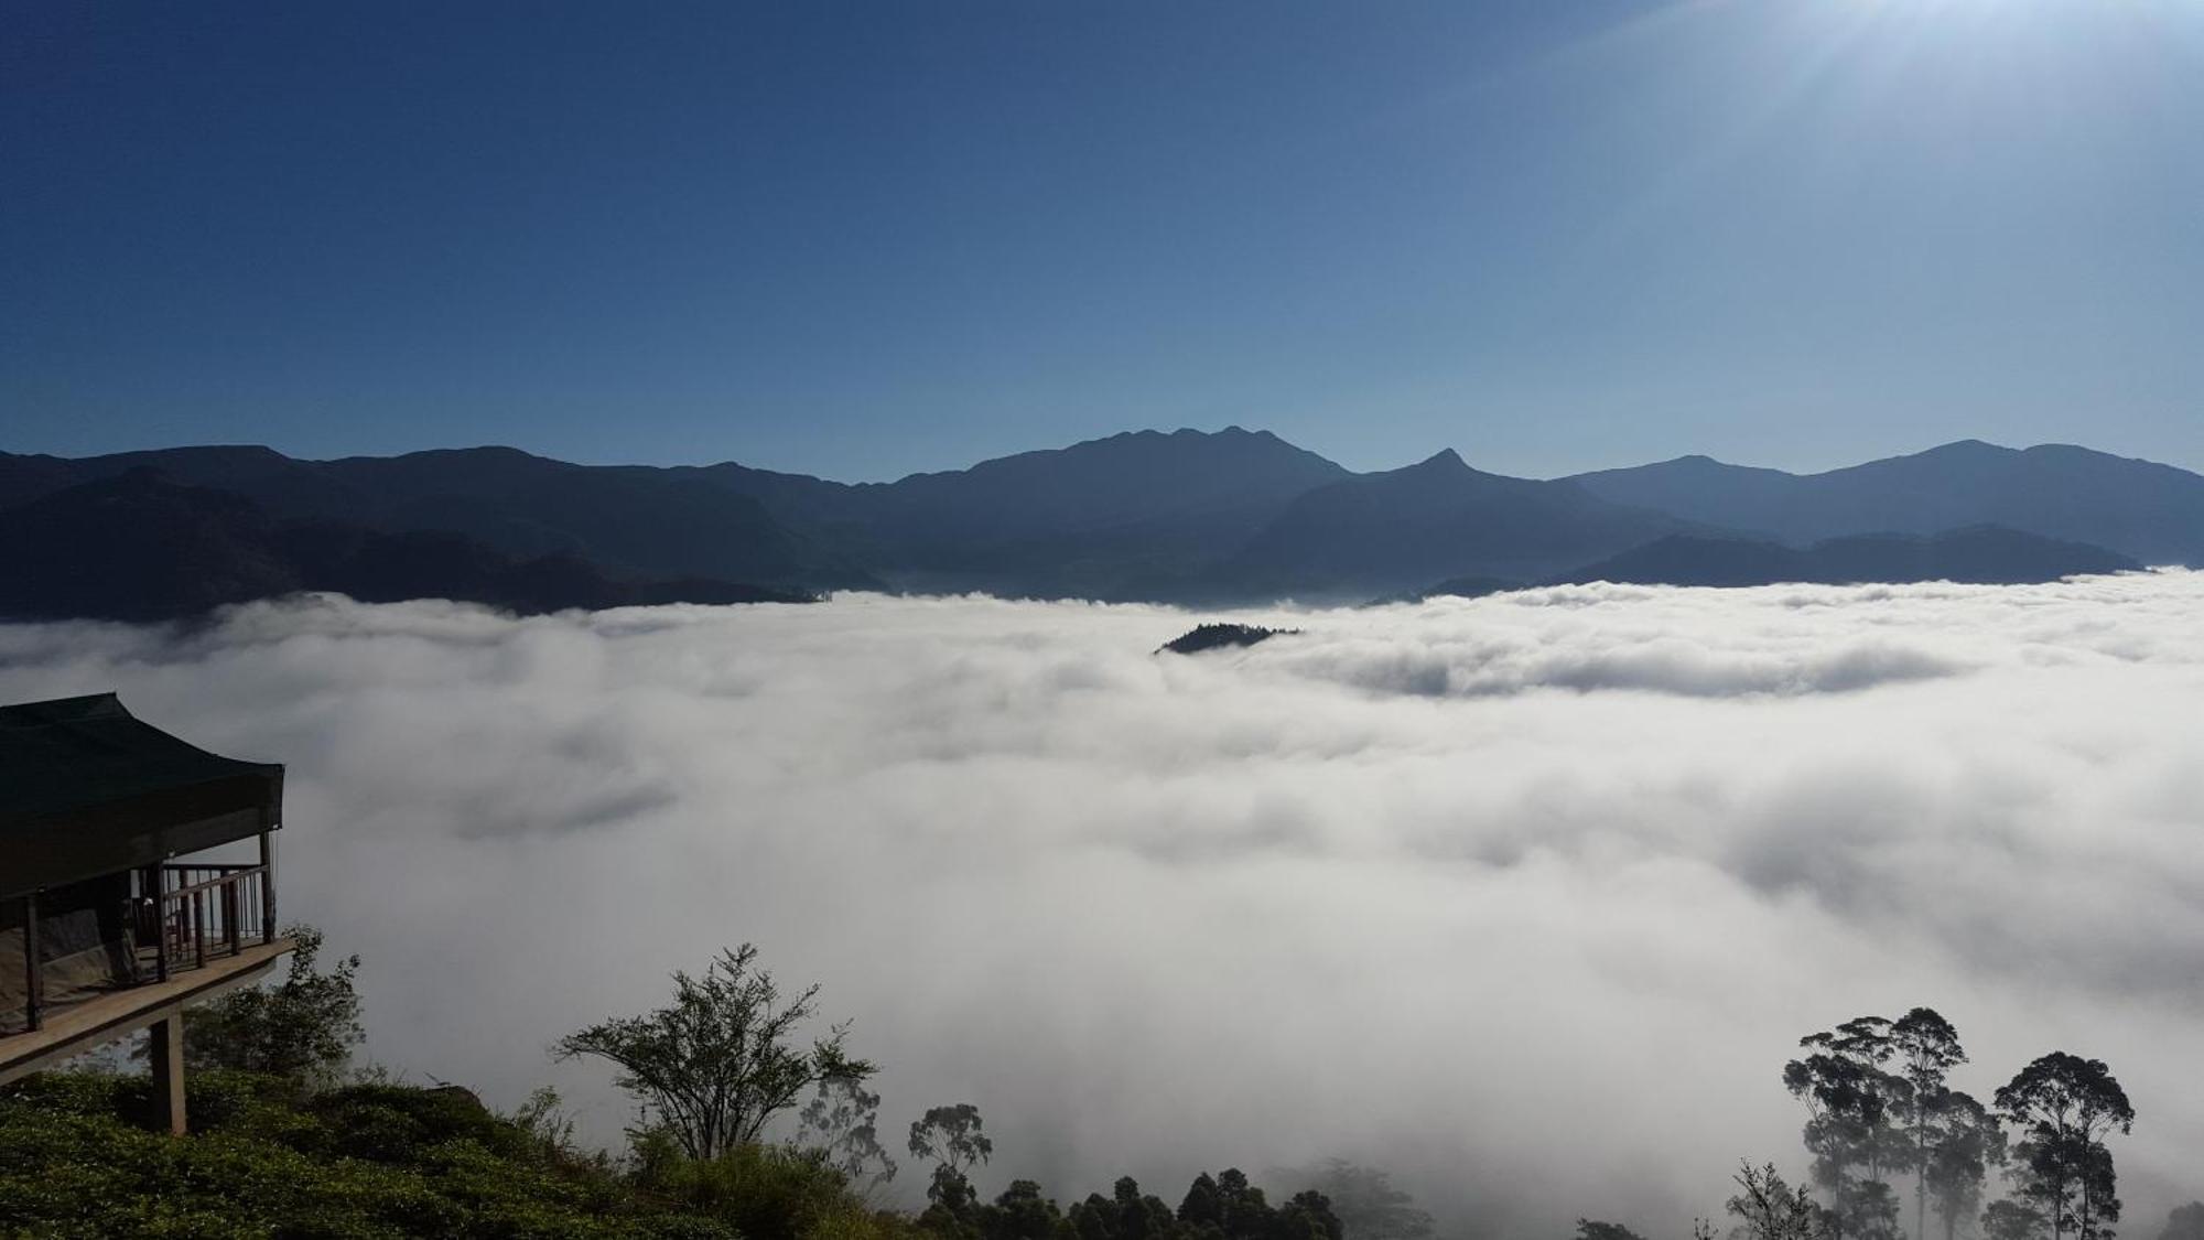
[[[359,991],[353,975],[359,958],[346,955],[335,969],[315,969],[322,931],[295,924],[284,931],[298,947],[276,986],[231,991],[192,1008],[183,1022],[183,1059],[192,1068],[264,1072],[309,1086],[344,1077],[359,1028]]]

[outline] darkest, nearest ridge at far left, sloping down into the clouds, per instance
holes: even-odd
[[[458,532],[278,521],[242,494],[181,485],[150,468],[0,514],[0,616],[9,618],[174,620],[309,589],[522,613],[802,600],[721,580],[615,580],[571,554],[514,558]]]

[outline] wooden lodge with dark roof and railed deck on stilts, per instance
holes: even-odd
[[[112,693],[0,706],[0,1083],[152,1035],[183,1132],[183,1011],[262,980],[282,766],[201,750]]]

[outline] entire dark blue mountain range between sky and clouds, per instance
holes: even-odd
[[[831,589],[1353,602],[1461,580],[2052,580],[2140,563],[2204,565],[2204,477],[2072,446],[1519,479],[1452,450],[1358,474],[1265,430],[1139,430],[893,483],[514,448],[0,452],[7,616],[187,616],[295,589],[522,611]]]

